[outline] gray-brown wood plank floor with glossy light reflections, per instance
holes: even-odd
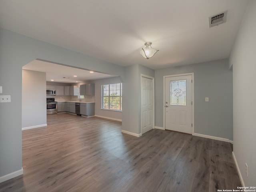
[[[216,192],[241,186],[232,144],[151,130],[137,138],[121,122],[71,114],[22,131],[23,176],[1,192]]]

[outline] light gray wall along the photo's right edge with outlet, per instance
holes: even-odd
[[[230,54],[233,66],[234,154],[245,186],[256,184],[256,1],[250,0]],[[245,173],[248,164],[248,177]]]

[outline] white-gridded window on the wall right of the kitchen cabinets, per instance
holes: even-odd
[[[102,109],[122,111],[122,83],[102,85]]]

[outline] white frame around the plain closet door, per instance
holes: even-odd
[[[152,76],[140,74],[140,136],[142,136],[142,89],[141,89],[141,84],[142,84],[142,77],[152,79],[153,81],[153,91],[152,91],[152,100],[153,100],[153,129],[155,128],[155,78]]]

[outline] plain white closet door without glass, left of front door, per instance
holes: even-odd
[[[153,129],[153,80],[141,77],[142,134]]]

